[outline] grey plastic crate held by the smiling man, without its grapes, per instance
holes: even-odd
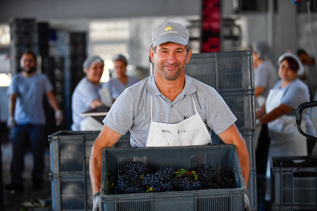
[[[160,193],[107,195],[107,173],[118,174],[129,161],[140,161],[154,171],[160,166],[194,169],[202,164],[210,166],[210,175],[231,172],[236,188],[193,190]],[[243,210],[244,189],[236,147],[178,146],[104,148],[102,150],[101,201],[103,210]]]

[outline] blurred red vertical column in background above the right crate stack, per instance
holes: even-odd
[[[201,52],[220,51],[220,0],[202,1]]]

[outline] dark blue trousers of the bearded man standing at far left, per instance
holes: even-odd
[[[11,162],[11,183],[22,184],[25,149],[30,146],[33,154],[33,183],[42,183],[44,173],[44,125],[17,125],[12,129],[13,157]]]

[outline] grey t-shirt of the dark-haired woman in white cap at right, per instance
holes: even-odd
[[[283,88],[280,88],[281,85],[282,80],[279,80],[275,84],[273,89],[284,91],[281,99],[281,104],[287,105],[293,109],[290,112],[288,112],[287,115],[295,115],[298,106],[300,106],[304,102],[310,101],[308,87],[300,79],[296,78],[294,81],[289,83],[287,86],[284,86]],[[303,110],[302,118],[306,123],[306,132],[316,137],[316,131],[310,119],[310,108]]]

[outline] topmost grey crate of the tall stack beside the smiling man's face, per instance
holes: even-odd
[[[254,90],[252,51],[194,53],[185,73],[219,93]]]

